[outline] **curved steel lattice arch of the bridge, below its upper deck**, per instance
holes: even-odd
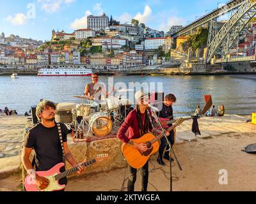
[[[236,46],[239,38],[239,33],[244,29],[248,22],[256,15],[256,2],[255,0],[246,0],[237,11],[230,17],[220,31],[216,34],[213,40],[209,41],[207,63],[211,61],[211,58],[220,54],[227,57],[228,50],[232,46]],[[213,32],[211,28],[211,32]],[[209,38],[212,38],[212,33],[209,34]]]

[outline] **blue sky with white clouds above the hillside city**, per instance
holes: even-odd
[[[52,29],[72,33],[86,27],[86,15],[106,15],[122,23],[138,18],[153,29],[168,31],[171,25],[214,10],[220,0],[0,0],[0,33],[50,40]],[[227,2],[223,0],[222,3]],[[218,4],[220,6],[220,4]]]

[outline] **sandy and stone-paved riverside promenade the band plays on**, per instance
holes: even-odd
[[[255,191],[253,163],[256,156],[241,152],[246,145],[256,143],[256,125],[246,123],[249,118],[241,115],[203,117],[198,120],[201,136],[191,132],[191,120],[177,127],[174,150],[183,171],[179,171],[175,161],[174,191]],[[0,191],[16,191],[16,184],[20,184],[20,151],[26,120],[27,117],[23,116],[0,117]],[[68,143],[72,143],[70,138]],[[71,151],[74,152],[74,149]],[[76,153],[74,157],[77,157]],[[150,159],[150,168],[153,170],[150,182],[154,185],[149,186],[149,191],[168,191],[170,167],[168,161],[165,162],[166,166],[161,167],[156,163],[156,156]],[[228,185],[220,185],[218,182],[221,176],[219,171],[223,169],[228,171]],[[116,186],[122,186],[123,171],[124,167],[84,175],[86,185],[80,177],[73,177],[69,180],[67,191],[116,189]],[[164,183],[166,186],[163,186]]]

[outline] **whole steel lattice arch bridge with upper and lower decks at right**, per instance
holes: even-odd
[[[227,22],[218,29],[217,20],[221,16],[230,13]],[[209,37],[207,41],[207,49],[205,54],[205,62],[225,63],[239,61],[255,61],[255,55],[246,57],[228,58],[230,49],[237,49],[237,41],[239,41],[239,33],[256,15],[256,0],[232,0],[227,4],[216,8],[207,13],[203,17],[198,18],[191,24],[186,25],[177,33],[172,34],[173,38],[192,33],[197,27],[208,24]],[[214,57],[215,56],[215,57]],[[217,59],[217,57],[219,59]],[[213,60],[214,59],[214,60]]]

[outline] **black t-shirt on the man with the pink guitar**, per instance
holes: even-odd
[[[67,142],[67,127],[65,124],[60,125],[63,142]],[[63,163],[63,152],[57,125],[53,128],[45,128],[42,123],[36,124],[26,134],[24,146],[35,149],[36,171],[47,171],[56,164]],[[65,167],[61,168],[61,172],[63,171],[65,171]],[[60,183],[67,184],[67,179],[61,179]]]

